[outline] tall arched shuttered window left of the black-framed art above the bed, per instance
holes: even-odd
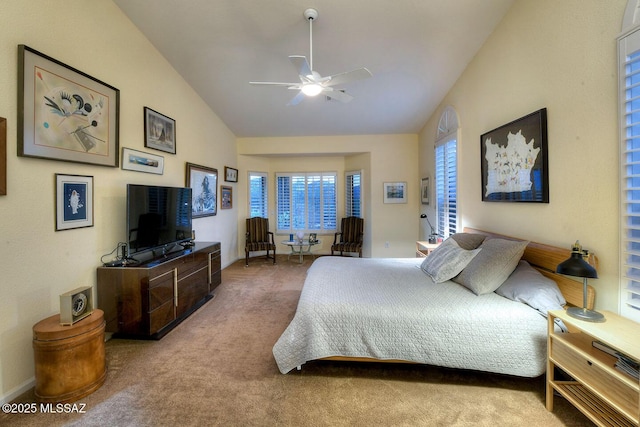
[[[435,153],[436,227],[444,238],[458,231],[457,131],[457,114],[447,107],[438,123]]]

